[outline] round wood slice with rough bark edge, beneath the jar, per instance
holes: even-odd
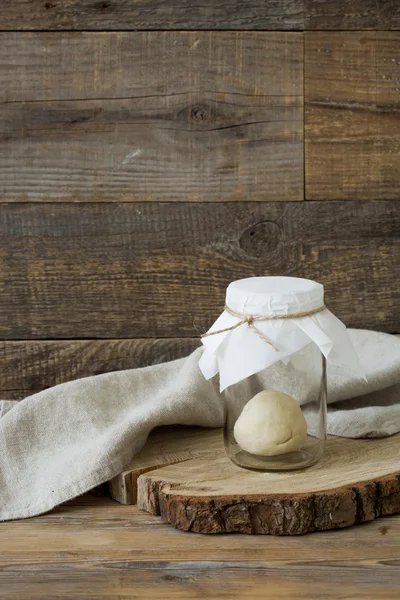
[[[210,449],[141,475],[139,508],[185,531],[271,535],[340,529],[400,512],[400,435],[330,438],[319,463],[292,473],[236,467],[224,455],[221,430],[205,432],[204,451]]]

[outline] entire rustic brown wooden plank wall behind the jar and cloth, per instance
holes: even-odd
[[[182,356],[249,275],[400,331],[397,0],[3,0],[0,395]]]

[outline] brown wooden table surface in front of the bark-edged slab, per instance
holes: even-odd
[[[0,524],[0,597],[400,598],[400,515],[298,537],[183,533],[110,498]]]

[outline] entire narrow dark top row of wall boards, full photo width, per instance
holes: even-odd
[[[3,0],[0,31],[399,29],[397,0]]]

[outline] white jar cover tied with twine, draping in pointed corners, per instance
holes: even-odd
[[[232,282],[226,291],[226,307],[240,316],[224,310],[202,338],[205,351],[199,366],[204,377],[219,373],[222,392],[278,361],[290,361],[293,354],[314,342],[331,364],[363,378],[346,326],[327,308],[313,313],[323,306],[324,286],[309,279],[250,277]],[[313,314],[296,317],[306,312]],[[271,344],[248,322],[229,329],[250,316],[273,317],[252,323]],[[214,333],[217,331],[220,333]]]

